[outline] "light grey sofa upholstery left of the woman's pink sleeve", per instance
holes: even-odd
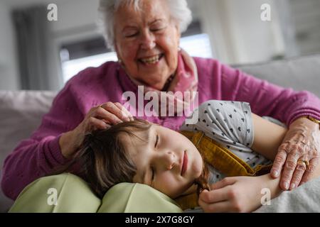
[[[56,92],[0,91],[0,175],[5,157],[19,141],[30,137],[38,128],[41,117],[48,112]],[[0,190],[0,212],[11,206]]]

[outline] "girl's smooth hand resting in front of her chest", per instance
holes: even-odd
[[[262,177],[226,177],[203,190],[198,203],[205,212],[251,212],[261,206]]]

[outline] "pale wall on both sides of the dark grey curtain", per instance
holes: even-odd
[[[20,89],[18,59],[11,9],[32,4],[54,3],[58,6],[58,21],[50,22],[51,42],[48,46],[50,89],[63,86],[60,66],[60,45],[70,40],[97,35],[97,7],[99,0],[0,0],[0,89]]]

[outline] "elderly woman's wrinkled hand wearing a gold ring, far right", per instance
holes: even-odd
[[[299,118],[290,125],[271,170],[272,177],[277,178],[284,167],[280,182],[283,190],[309,181],[319,164],[319,140],[319,125],[309,119]]]

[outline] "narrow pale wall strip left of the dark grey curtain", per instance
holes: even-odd
[[[16,41],[9,6],[0,1],[0,89],[18,90]]]

